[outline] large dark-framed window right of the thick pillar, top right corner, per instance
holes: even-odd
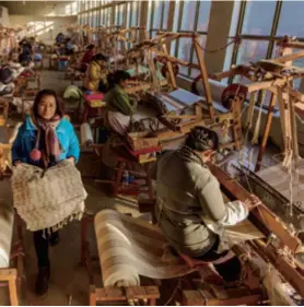
[[[302,1],[238,2],[233,13],[230,35],[241,35],[242,44],[238,47],[231,45],[226,49],[225,69],[235,63],[278,57],[279,48],[276,43],[284,35],[297,36],[297,39],[304,40],[303,10]],[[304,59],[294,61],[294,64],[304,67]],[[229,80],[233,81],[239,81],[239,78]],[[244,79],[241,82],[246,81]],[[299,90],[301,80],[295,80],[294,85]]]

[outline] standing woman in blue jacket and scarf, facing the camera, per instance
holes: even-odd
[[[57,94],[51,90],[40,91],[34,102],[31,116],[20,127],[12,147],[13,165],[21,163],[48,168],[69,160],[75,164],[80,149],[73,126],[63,117]],[[48,245],[56,245],[58,233],[44,237],[43,229],[34,232],[34,245],[38,260],[36,294],[48,291],[50,275]]]

